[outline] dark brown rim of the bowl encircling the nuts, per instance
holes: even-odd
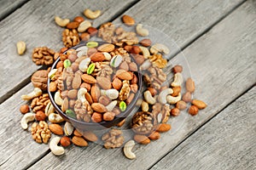
[[[89,41],[88,41],[89,42]],[[102,45],[103,43],[108,43],[108,42],[99,42],[99,41],[96,41],[98,42],[98,46]],[[83,47],[83,46],[86,46],[86,42],[80,42],[78,45],[72,47],[72,48],[68,48],[63,54],[67,54],[67,51],[69,49],[77,49],[77,48],[80,48],[80,47]],[[131,59],[133,60],[133,62],[135,62],[135,59],[133,58],[133,56],[130,54],[130,57]],[[60,57],[58,57],[55,62],[53,63],[53,65],[51,66],[50,68],[50,71],[52,71],[53,69],[55,69],[57,63],[59,62],[60,60]],[[136,62],[135,62],[136,63]],[[136,63],[137,65],[137,63]],[[139,65],[137,65],[137,71],[133,71],[134,74],[136,74],[137,76],[137,86],[138,86],[138,89],[137,89],[137,93],[135,93],[135,96],[134,98],[132,99],[131,103],[127,106],[126,110],[125,111],[121,111],[119,113],[119,115],[117,116],[114,116],[113,120],[112,121],[109,121],[109,122],[106,122],[106,121],[102,121],[102,122],[82,122],[82,121],[79,121],[77,119],[74,119],[73,117],[70,117],[70,116],[67,116],[66,113],[64,113],[63,111],[61,111],[61,108],[59,105],[56,105],[55,103],[55,100],[54,100],[54,95],[55,92],[50,92],[49,91],[49,83],[51,82],[50,81],[50,78],[48,77],[47,79],[47,92],[49,94],[49,99],[50,99],[50,102],[52,105],[54,105],[55,107],[55,110],[67,121],[67,122],[74,122],[74,123],[79,123],[81,126],[83,127],[109,127],[108,125],[110,125],[110,127],[113,127],[114,125],[116,125],[118,122],[121,122],[126,116],[129,116],[130,112],[135,108],[136,106],[136,103],[137,103],[137,99],[139,98],[141,92],[142,92],[142,85],[143,85],[143,78],[142,78],[142,73],[139,69]],[[120,121],[119,121],[120,120]],[[113,123],[113,125],[111,125]]]

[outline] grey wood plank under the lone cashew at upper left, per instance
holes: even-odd
[[[23,82],[37,71],[39,66],[32,62],[33,48],[48,46],[56,51],[63,47],[61,42],[62,28],[55,25],[54,17],[59,15],[63,18],[73,19],[77,15],[84,15],[85,8],[100,9],[102,15],[93,20],[93,26],[112,20],[125,8],[137,0],[129,1],[40,1],[32,0],[10,14],[0,22],[0,103],[7,97],[13,88],[20,88]],[[118,8],[117,8],[118,7]],[[85,18],[85,17],[84,17]],[[15,43],[24,41],[27,45],[26,54],[19,56],[16,52]],[[19,72],[19,74],[17,74]]]

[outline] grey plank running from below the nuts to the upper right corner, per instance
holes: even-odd
[[[65,156],[56,157],[49,153],[32,169],[43,166],[50,169],[68,168],[72,166],[71,161],[76,167],[90,169],[147,169],[153,166],[155,161],[256,82],[255,28],[256,12],[253,2],[248,1],[183,51],[195,75],[195,98],[206,101],[208,107],[200,111],[198,116],[188,116],[176,133],[172,133],[172,129],[151,144],[137,144],[134,149],[136,160],[126,159],[120,149],[105,150],[101,145],[90,144],[82,150],[72,147]],[[180,56],[182,54],[172,60]]]

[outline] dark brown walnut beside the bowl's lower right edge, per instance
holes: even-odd
[[[155,129],[156,120],[152,113],[147,111],[137,112],[132,116],[131,127],[135,133],[148,134]]]

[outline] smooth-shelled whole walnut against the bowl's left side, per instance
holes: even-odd
[[[44,91],[47,89],[47,78],[48,71],[36,71],[31,77],[31,82],[33,83],[35,88],[41,88]]]

